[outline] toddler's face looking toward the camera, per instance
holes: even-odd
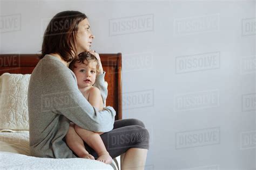
[[[89,61],[89,63],[85,60],[85,64],[83,63],[75,63],[75,68],[73,68],[73,72],[77,77],[78,88],[85,88],[92,86],[96,80],[96,61]]]

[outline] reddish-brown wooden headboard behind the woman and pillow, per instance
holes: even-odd
[[[0,54],[0,75],[3,73],[31,74],[40,54]],[[122,54],[99,54],[105,81],[108,83],[106,105],[116,110],[116,120],[122,119]]]

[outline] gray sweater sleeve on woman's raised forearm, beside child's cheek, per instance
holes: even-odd
[[[105,85],[105,74],[106,72],[103,71],[103,74],[97,74],[95,83],[93,84],[93,86],[97,87],[100,90],[100,94],[102,95],[102,100],[103,100],[103,105],[105,105],[105,101],[107,98],[107,88]]]

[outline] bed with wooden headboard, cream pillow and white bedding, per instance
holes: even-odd
[[[116,110],[116,120],[122,119],[122,54],[99,55],[106,72],[106,105],[111,105]],[[30,74],[39,61],[38,56],[39,54],[0,54],[0,169],[120,169],[119,157],[113,159],[112,164],[106,165],[82,158],[30,156],[26,94]]]

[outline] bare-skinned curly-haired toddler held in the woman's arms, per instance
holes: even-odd
[[[102,110],[104,106],[100,90],[97,87],[92,86],[96,80],[99,62],[100,61],[98,61],[90,52],[83,52],[78,55],[77,60],[70,63],[69,68],[75,73],[78,88],[86,100],[96,109]],[[109,152],[107,152],[102,138],[99,136],[102,133],[89,130],[85,130],[85,132],[86,133],[81,138],[96,151],[98,154],[97,160],[110,164],[112,158],[110,157]],[[85,150],[84,144],[77,145],[78,141],[73,142],[71,136],[72,135],[68,133],[65,138],[68,146],[72,148],[72,151],[80,158],[94,159],[94,157]]]

